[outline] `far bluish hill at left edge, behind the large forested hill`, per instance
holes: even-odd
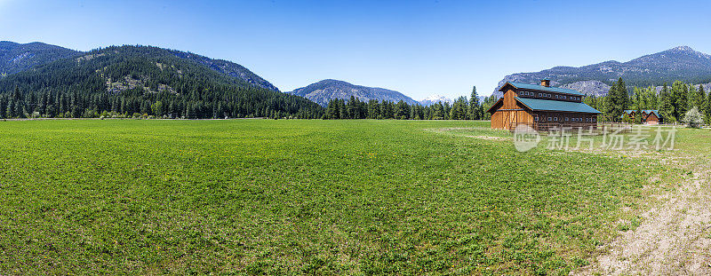
[[[0,41],[0,75],[12,75],[57,59],[81,54],[80,51],[45,43],[20,44]]]

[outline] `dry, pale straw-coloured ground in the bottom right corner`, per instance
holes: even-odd
[[[711,170],[663,195],[643,222],[603,248],[607,253],[572,275],[711,275]]]

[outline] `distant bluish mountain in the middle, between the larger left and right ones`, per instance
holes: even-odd
[[[410,97],[403,95],[398,91],[391,91],[377,87],[367,87],[355,85],[338,80],[323,80],[318,83],[309,84],[306,87],[288,92],[292,95],[297,95],[310,99],[321,106],[327,106],[331,99],[350,99],[351,96],[368,101],[371,99],[388,100],[398,102],[403,100],[405,103],[414,105],[418,102]]]

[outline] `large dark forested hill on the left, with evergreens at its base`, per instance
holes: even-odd
[[[239,65],[150,46],[112,46],[0,79],[4,117],[320,117],[323,108],[269,89]],[[273,87],[273,86],[271,86]],[[15,89],[17,88],[17,93]]]

